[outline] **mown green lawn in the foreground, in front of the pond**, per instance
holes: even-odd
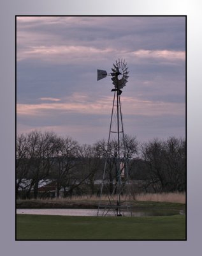
[[[91,217],[17,214],[17,240],[185,240],[185,216]]]

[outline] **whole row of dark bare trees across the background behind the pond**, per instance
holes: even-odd
[[[115,175],[117,141],[107,144],[106,140],[100,140],[93,145],[80,145],[73,138],[62,138],[54,132],[31,131],[18,135],[17,196],[24,190],[26,198],[30,198],[31,193],[38,198],[40,181],[45,179],[55,182],[57,197],[61,189],[64,196],[99,193],[96,180],[103,177],[105,159],[108,179],[113,180]],[[143,192],[185,191],[185,140],[170,137],[139,143],[136,137],[126,135],[120,142],[120,156],[127,161],[132,190],[136,189],[133,180],[139,180],[138,189]],[[29,182],[22,186],[24,180]]]

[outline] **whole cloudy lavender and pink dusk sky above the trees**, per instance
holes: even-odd
[[[185,138],[185,17],[17,17],[17,134],[108,138],[112,72],[124,59],[124,132]]]

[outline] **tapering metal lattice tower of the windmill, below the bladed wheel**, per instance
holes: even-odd
[[[116,135],[115,140],[112,140],[112,134]],[[120,135],[122,135],[122,140],[120,140]],[[112,152],[113,150],[114,152]],[[109,166],[110,164],[111,166]],[[113,179],[109,180],[107,175],[109,175],[110,172],[111,174],[113,173]],[[120,94],[119,90],[114,90],[110,132],[108,135],[106,159],[103,180],[101,183],[97,216],[106,216],[112,214],[115,216],[123,216],[124,212],[129,209],[129,205],[127,204],[126,200],[128,196],[126,193],[128,185],[129,177],[127,173],[126,148],[120,105]],[[107,202],[103,202],[102,200],[103,193],[106,193],[108,196]],[[125,200],[122,200],[123,196],[125,196]]]

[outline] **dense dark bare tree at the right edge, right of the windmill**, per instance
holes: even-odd
[[[148,168],[145,188],[156,191],[183,191],[185,189],[185,141],[171,137],[167,141],[153,140],[141,147]]]

